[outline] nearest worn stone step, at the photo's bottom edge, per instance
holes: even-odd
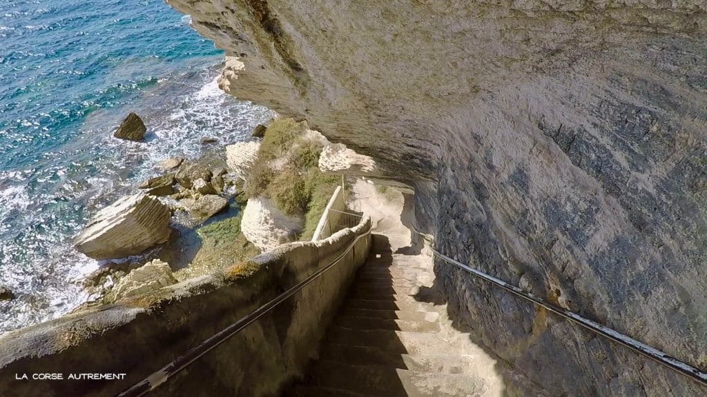
[[[483,396],[483,379],[460,374],[414,372],[394,367],[318,362],[313,385],[387,397]]]

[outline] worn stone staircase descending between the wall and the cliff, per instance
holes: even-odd
[[[430,257],[394,254],[373,235],[318,359],[286,395],[502,396],[495,361],[452,328],[433,280]]]

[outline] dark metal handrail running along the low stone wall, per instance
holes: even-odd
[[[210,352],[218,345],[221,345],[221,343],[228,340],[228,338],[234,336],[236,333],[242,331],[245,327],[257,321],[257,319],[264,316],[264,314],[267,314],[267,312],[277,307],[279,304],[287,300],[292,295],[295,295],[297,292],[302,290],[302,288],[305,288],[307,285],[312,283],[312,281],[319,278],[320,275],[324,274],[330,268],[334,267],[334,265],[339,263],[341,259],[344,259],[344,256],[346,256],[346,254],[348,254],[351,249],[354,249],[354,247],[356,247],[356,243],[358,242],[358,240],[362,239],[363,237],[366,237],[367,235],[370,235],[370,231],[372,228],[373,227],[369,226],[368,230],[366,230],[365,233],[358,235],[358,237],[356,237],[354,241],[349,244],[349,247],[346,247],[346,249],[344,249],[344,251],[342,251],[341,254],[339,254],[339,256],[334,259],[334,261],[327,264],[327,266],[315,271],[314,273],[309,275],[308,278],[305,278],[304,280],[294,285],[292,288],[283,292],[281,295],[275,297],[273,300],[267,302],[261,307],[258,307],[257,309],[255,309],[255,311],[251,312],[242,319],[235,321],[235,323],[230,324],[230,326],[227,326],[221,331],[218,331],[218,333],[216,333],[214,336],[211,336],[211,338],[208,338],[204,340],[204,342],[199,343],[199,345],[190,349],[185,354],[180,355],[180,357],[177,357],[168,365],[165,365],[164,367],[162,367],[156,372],[153,372],[150,376],[146,377],[139,383],[134,384],[129,389],[123,391],[118,395],[118,397],[141,397],[149,393],[156,387],[160,386],[161,384],[165,383],[165,381],[170,379],[170,377],[173,377],[175,374],[182,371],[182,369],[185,369],[186,367],[191,365],[194,361],[199,359],[199,357],[205,355],[207,352]],[[354,254],[355,252],[356,251],[354,249]]]

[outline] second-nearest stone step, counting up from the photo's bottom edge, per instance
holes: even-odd
[[[320,361],[343,362],[348,365],[380,365],[438,374],[469,374],[477,372],[474,355],[409,355],[391,354],[368,346],[325,343]]]

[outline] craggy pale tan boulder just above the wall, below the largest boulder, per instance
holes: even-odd
[[[177,279],[172,273],[170,265],[159,259],[154,259],[121,278],[113,287],[112,292],[115,300],[122,300],[159,290],[175,283],[177,283]]]

